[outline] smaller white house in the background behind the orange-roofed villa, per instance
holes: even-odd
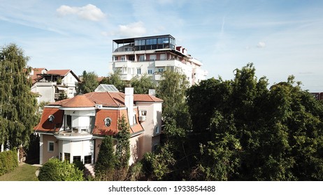
[[[29,78],[33,84],[31,92],[39,95],[38,102],[55,102],[60,94],[73,98],[80,81],[72,70],[47,70],[46,68],[32,68]]]

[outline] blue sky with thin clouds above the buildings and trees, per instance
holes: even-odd
[[[254,63],[270,84],[294,75],[323,91],[323,1],[0,0],[0,46],[14,42],[34,68],[108,76],[112,40],[171,34],[208,77]]]

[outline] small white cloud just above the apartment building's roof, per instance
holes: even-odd
[[[145,26],[143,22],[134,22],[127,25],[119,25],[119,30],[117,31],[118,36],[126,37],[136,37],[143,36],[146,33]]]

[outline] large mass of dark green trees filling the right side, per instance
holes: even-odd
[[[189,144],[200,146],[190,179],[322,180],[323,105],[299,84],[268,88],[250,63],[189,88]]]

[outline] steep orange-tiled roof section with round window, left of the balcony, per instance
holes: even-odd
[[[54,116],[53,122],[48,120],[49,116]],[[45,107],[41,116],[41,121],[34,127],[34,130],[43,132],[55,132],[62,127],[64,111],[59,108]]]

